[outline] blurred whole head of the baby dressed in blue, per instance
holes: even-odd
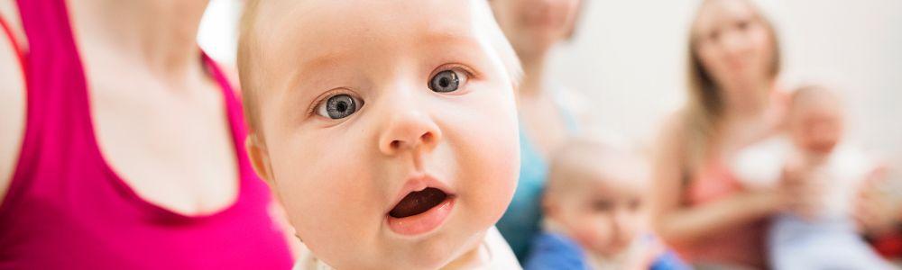
[[[645,226],[649,166],[636,155],[587,139],[557,151],[543,198],[546,219],[586,252],[620,254]]]

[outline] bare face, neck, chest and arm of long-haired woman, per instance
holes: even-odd
[[[725,103],[723,121],[708,141],[708,160],[727,160],[780,129],[782,116],[765,98],[773,84],[769,76],[773,35],[758,18],[741,0],[706,1],[696,17],[693,49]],[[684,162],[686,131],[683,114],[678,113],[667,121],[656,146],[652,208],[662,238],[677,245],[704,244],[708,235],[759,220],[782,207],[787,196],[777,190],[742,191],[716,202],[688,205],[684,177],[691,181],[699,168]]]

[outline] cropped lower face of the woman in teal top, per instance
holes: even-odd
[[[544,52],[574,30],[580,0],[492,0],[495,18],[517,53]]]

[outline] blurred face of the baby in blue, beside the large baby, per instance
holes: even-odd
[[[643,223],[644,199],[637,179],[599,180],[563,199],[560,215],[571,237],[587,251],[613,256],[630,247]]]

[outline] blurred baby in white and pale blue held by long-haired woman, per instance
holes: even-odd
[[[733,158],[732,169],[748,188],[773,188],[780,181],[821,187],[810,189],[821,195],[818,202],[795,203],[774,218],[768,246],[775,269],[890,269],[861,239],[851,216],[861,185],[879,166],[844,142],[843,114],[832,90],[800,87],[792,94],[787,134]]]

